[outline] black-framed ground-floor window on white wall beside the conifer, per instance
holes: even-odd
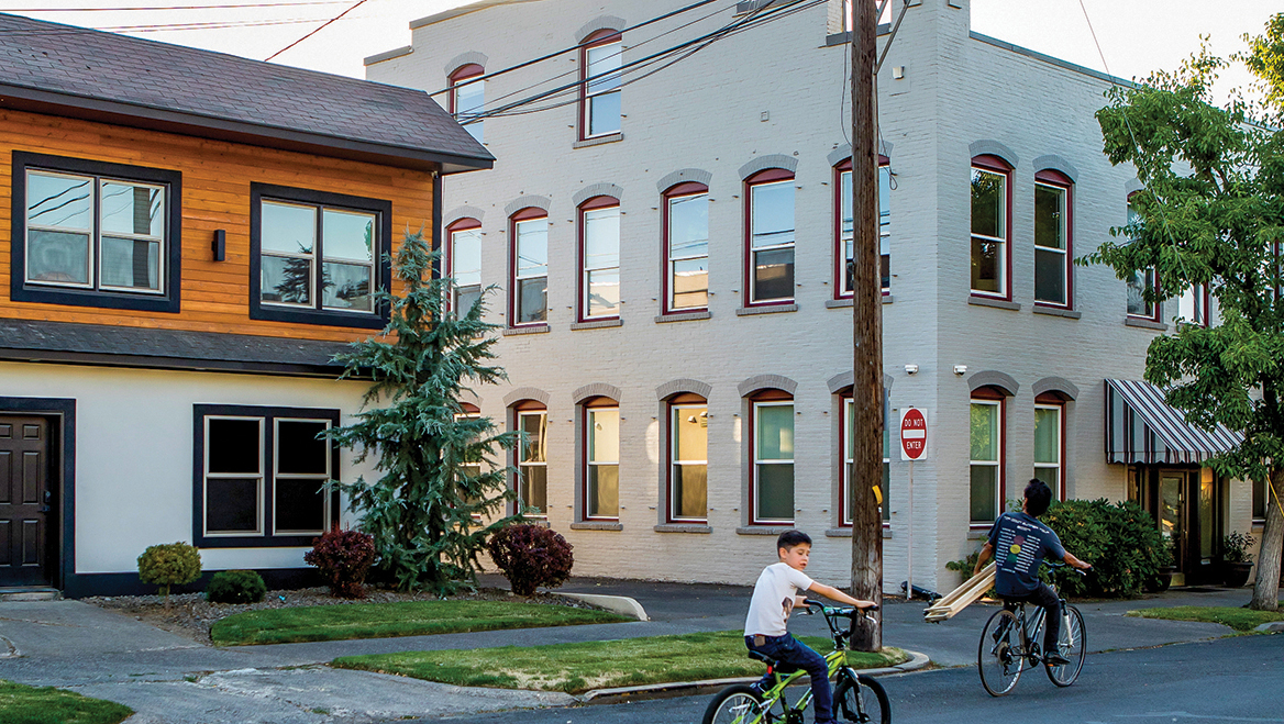
[[[309,546],[339,522],[338,409],[194,406],[193,539],[202,548]]]

